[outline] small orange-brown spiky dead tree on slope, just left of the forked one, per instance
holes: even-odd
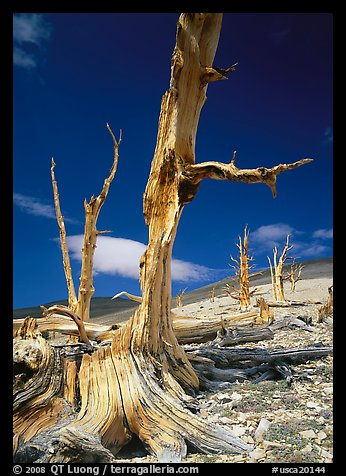
[[[251,305],[251,296],[257,291],[257,288],[250,290],[250,279],[262,274],[261,271],[250,273],[250,270],[255,265],[249,264],[253,261],[253,257],[249,256],[249,231],[247,226],[244,228],[243,240],[239,236],[237,247],[239,249],[239,258],[235,259],[231,256],[231,260],[235,263],[235,265],[232,265],[235,270],[235,278],[230,283],[227,283],[224,289],[231,298],[239,301],[240,310],[246,311]]]

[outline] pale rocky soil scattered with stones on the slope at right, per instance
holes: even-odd
[[[318,307],[327,300],[330,278],[299,281],[296,291],[286,290],[286,298],[296,305],[273,308],[274,317],[312,318],[312,331],[303,328],[280,329],[274,339],[246,343],[237,348],[297,348],[322,343],[332,345],[332,319],[318,323]],[[288,284],[287,284],[288,286]],[[271,286],[263,285],[257,296],[272,300]],[[298,303],[301,303],[299,305]],[[205,317],[239,312],[230,297],[216,296],[175,309],[176,313]],[[197,345],[197,344],[196,344]],[[200,344],[204,345],[204,344]],[[291,367],[293,381],[235,382],[227,389],[201,392],[202,418],[227,426],[235,435],[254,446],[241,455],[203,455],[189,453],[186,463],[330,463],[333,458],[333,359],[331,356]],[[119,462],[154,463],[140,448],[125,449]]]

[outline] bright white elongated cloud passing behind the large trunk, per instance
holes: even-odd
[[[67,237],[67,245],[71,258],[81,261],[83,235]],[[139,241],[99,236],[94,255],[94,271],[139,279],[139,260],[146,249],[147,246]],[[182,282],[212,280],[219,271],[178,259],[172,260],[171,270],[172,279]]]

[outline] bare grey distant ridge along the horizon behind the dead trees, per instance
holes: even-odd
[[[302,279],[324,277],[330,277],[332,279],[333,277],[333,258],[319,258],[300,261],[300,263],[304,265],[301,275]],[[288,268],[289,264],[285,265],[285,267]],[[256,269],[254,269],[254,271],[256,271]],[[251,284],[253,286],[259,286],[270,283],[269,268],[263,270],[258,269],[258,271],[262,271],[262,274],[252,279]],[[184,304],[191,304],[194,302],[208,299],[210,297],[210,291],[212,290],[212,288],[215,288],[216,296],[224,294],[222,288],[224,287],[225,283],[228,282],[228,280],[229,278],[224,278],[221,281],[217,281],[216,283],[207,284],[206,286],[185,293]],[[52,301],[43,305],[49,307],[53,304],[64,304],[66,306],[67,300]],[[173,300],[173,306],[174,305],[175,302]],[[134,310],[137,307],[138,303],[130,301],[129,299],[118,298],[112,300],[110,297],[94,297],[91,300],[90,316],[92,320],[95,319],[98,322],[102,321],[104,324],[107,325],[127,320],[133,314]],[[26,316],[41,317],[40,306],[26,307],[13,310],[13,319],[20,319]]]

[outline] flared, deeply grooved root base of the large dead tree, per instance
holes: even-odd
[[[32,342],[22,328],[18,334],[17,347],[28,360]],[[121,330],[111,347],[84,354],[78,376],[78,364],[65,359],[59,371],[52,372],[61,375],[59,384],[53,385],[49,371],[57,350],[53,352],[36,331],[35,346],[47,358],[16,393],[15,461],[112,462],[132,434],[160,462],[181,461],[187,445],[204,453],[251,450],[229,431],[189,411],[192,399],[176,379],[178,370],[175,375],[171,371],[178,363],[168,352],[157,356],[136,352],[125,345],[127,335],[126,329]],[[17,367],[19,360],[18,354]],[[47,383],[42,386],[43,377]],[[35,431],[29,431],[32,424]]]

